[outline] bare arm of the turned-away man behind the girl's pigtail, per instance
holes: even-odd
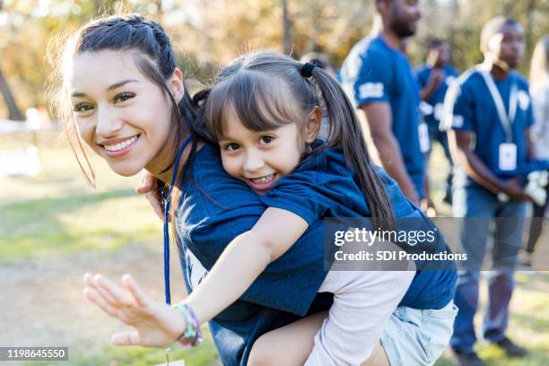
[[[414,182],[405,169],[400,146],[391,129],[393,116],[389,104],[383,101],[374,101],[362,105],[361,109],[366,115],[366,120],[370,126],[370,134],[378,150],[379,160],[383,164],[383,168],[387,170],[391,178],[396,180],[404,195],[414,204],[419,205],[419,195]]]

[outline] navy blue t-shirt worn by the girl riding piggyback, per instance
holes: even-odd
[[[393,205],[396,231],[430,231],[434,224],[403,194],[396,181],[385,170],[375,167]],[[347,166],[339,149],[317,153],[292,174],[280,179],[260,199],[270,207],[282,208],[301,216],[309,224],[326,217],[371,217],[370,208],[357,186],[353,171]],[[437,231],[438,232],[438,231]],[[319,232],[320,236],[322,233]],[[408,252],[406,243],[396,243]],[[412,251],[451,252],[440,234],[431,243],[418,243]],[[414,309],[440,309],[453,298],[457,274],[455,263],[416,262],[418,271],[399,305]]]

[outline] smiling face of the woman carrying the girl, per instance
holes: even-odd
[[[171,103],[135,65],[135,54],[102,50],[74,58],[70,95],[83,141],[116,173],[153,174],[170,164]]]

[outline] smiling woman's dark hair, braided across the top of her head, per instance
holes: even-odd
[[[166,83],[166,80],[176,69],[176,57],[171,47],[170,38],[159,23],[137,14],[113,15],[88,22],[80,30],[77,30],[68,41],[58,39],[59,41],[63,42],[63,49],[57,53],[57,59],[53,61],[57,66],[57,79],[61,81],[61,85],[54,89],[55,98],[51,100],[57,115],[65,125],[65,133],[80,168],[83,170],[84,177],[92,187],[95,186],[95,176],[90,161],[83,150],[82,141],[77,134],[66,85],[67,75],[72,72],[71,66],[74,57],[78,54],[102,50],[131,52],[135,56],[135,65],[139,70],[170,99],[175,146],[173,160],[165,168],[166,170],[173,165],[179,150],[178,147],[185,136],[190,133],[202,135],[205,132],[205,129],[196,123],[198,121],[196,108],[187,88],[185,88],[183,98],[177,102]],[[55,48],[55,44],[50,44],[50,46],[52,45]],[[48,53],[50,51],[51,48],[48,49]],[[83,159],[89,172],[84,169],[83,161],[76,153],[76,147],[83,153]],[[193,145],[193,151],[195,149],[196,144]]]

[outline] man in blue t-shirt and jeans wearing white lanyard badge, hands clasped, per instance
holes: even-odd
[[[524,54],[524,30],[512,19],[494,18],[484,25],[481,49],[484,63],[467,70],[449,87],[442,116],[442,125],[451,128],[450,146],[456,146],[452,151],[457,164],[453,210],[456,217],[463,217],[460,243],[469,262],[457,280],[454,301],[459,312],[450,341],[461,365],[484,364],[473,348],[473,319],[491,224],[493,271],[484,338],[510,356],[526,354],[505,335],[527,209],[521,183],[527,172],[528,130],[533,124],[527,81],[513,70]],[[510,200],[499,199],[501,193]]]

